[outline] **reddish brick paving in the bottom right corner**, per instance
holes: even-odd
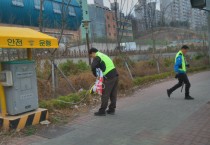
[[[210,145],[210,103],[181,123],[159,145]]]

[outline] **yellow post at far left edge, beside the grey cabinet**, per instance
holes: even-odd
[[[0,72],[1,72],[1,63],[0,63]],[[5,117],[7,115],[7,106],[6,106],[6,96],[4,93],[4,88],[0,83],[0,102],[1,102],[1,115]]]

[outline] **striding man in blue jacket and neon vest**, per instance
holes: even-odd
[[[176,54],[174,70],[176,72],[175,78],[177,78],[179,82],[178,84],[176,84],[175,86],[167,90],[167,94],[169,98],[173,91],[175,91],[176,89],[180,88],[181,86],[185,84],[185,99],[186,100],[194,99],[190,96],[191,85],[186,74],[187,67],[189,67],[189,65],[186,63],[186,60],[185,60],[185,56],[187,54],[188,49],[189,47],[187,45],[183,45],[181,50]]]

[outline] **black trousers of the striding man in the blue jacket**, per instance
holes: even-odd
[[[179,80],[178,84],[176,84],[171,89],[169,89],[169,91],[172,93],[176,89],[180,88],[184,83],[185,84],[185,96],[189,96],[191,84],[190,84],[190,81],[187,77],[187,74],[185,74],[185,73],[184,74],[177,74],[176,78]]]

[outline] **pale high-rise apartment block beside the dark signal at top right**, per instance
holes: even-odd
[[[191,29],[207,25],[204,11],[192,9],[190,0],[160,0],[161,20],[171,22],[189,22]]]

